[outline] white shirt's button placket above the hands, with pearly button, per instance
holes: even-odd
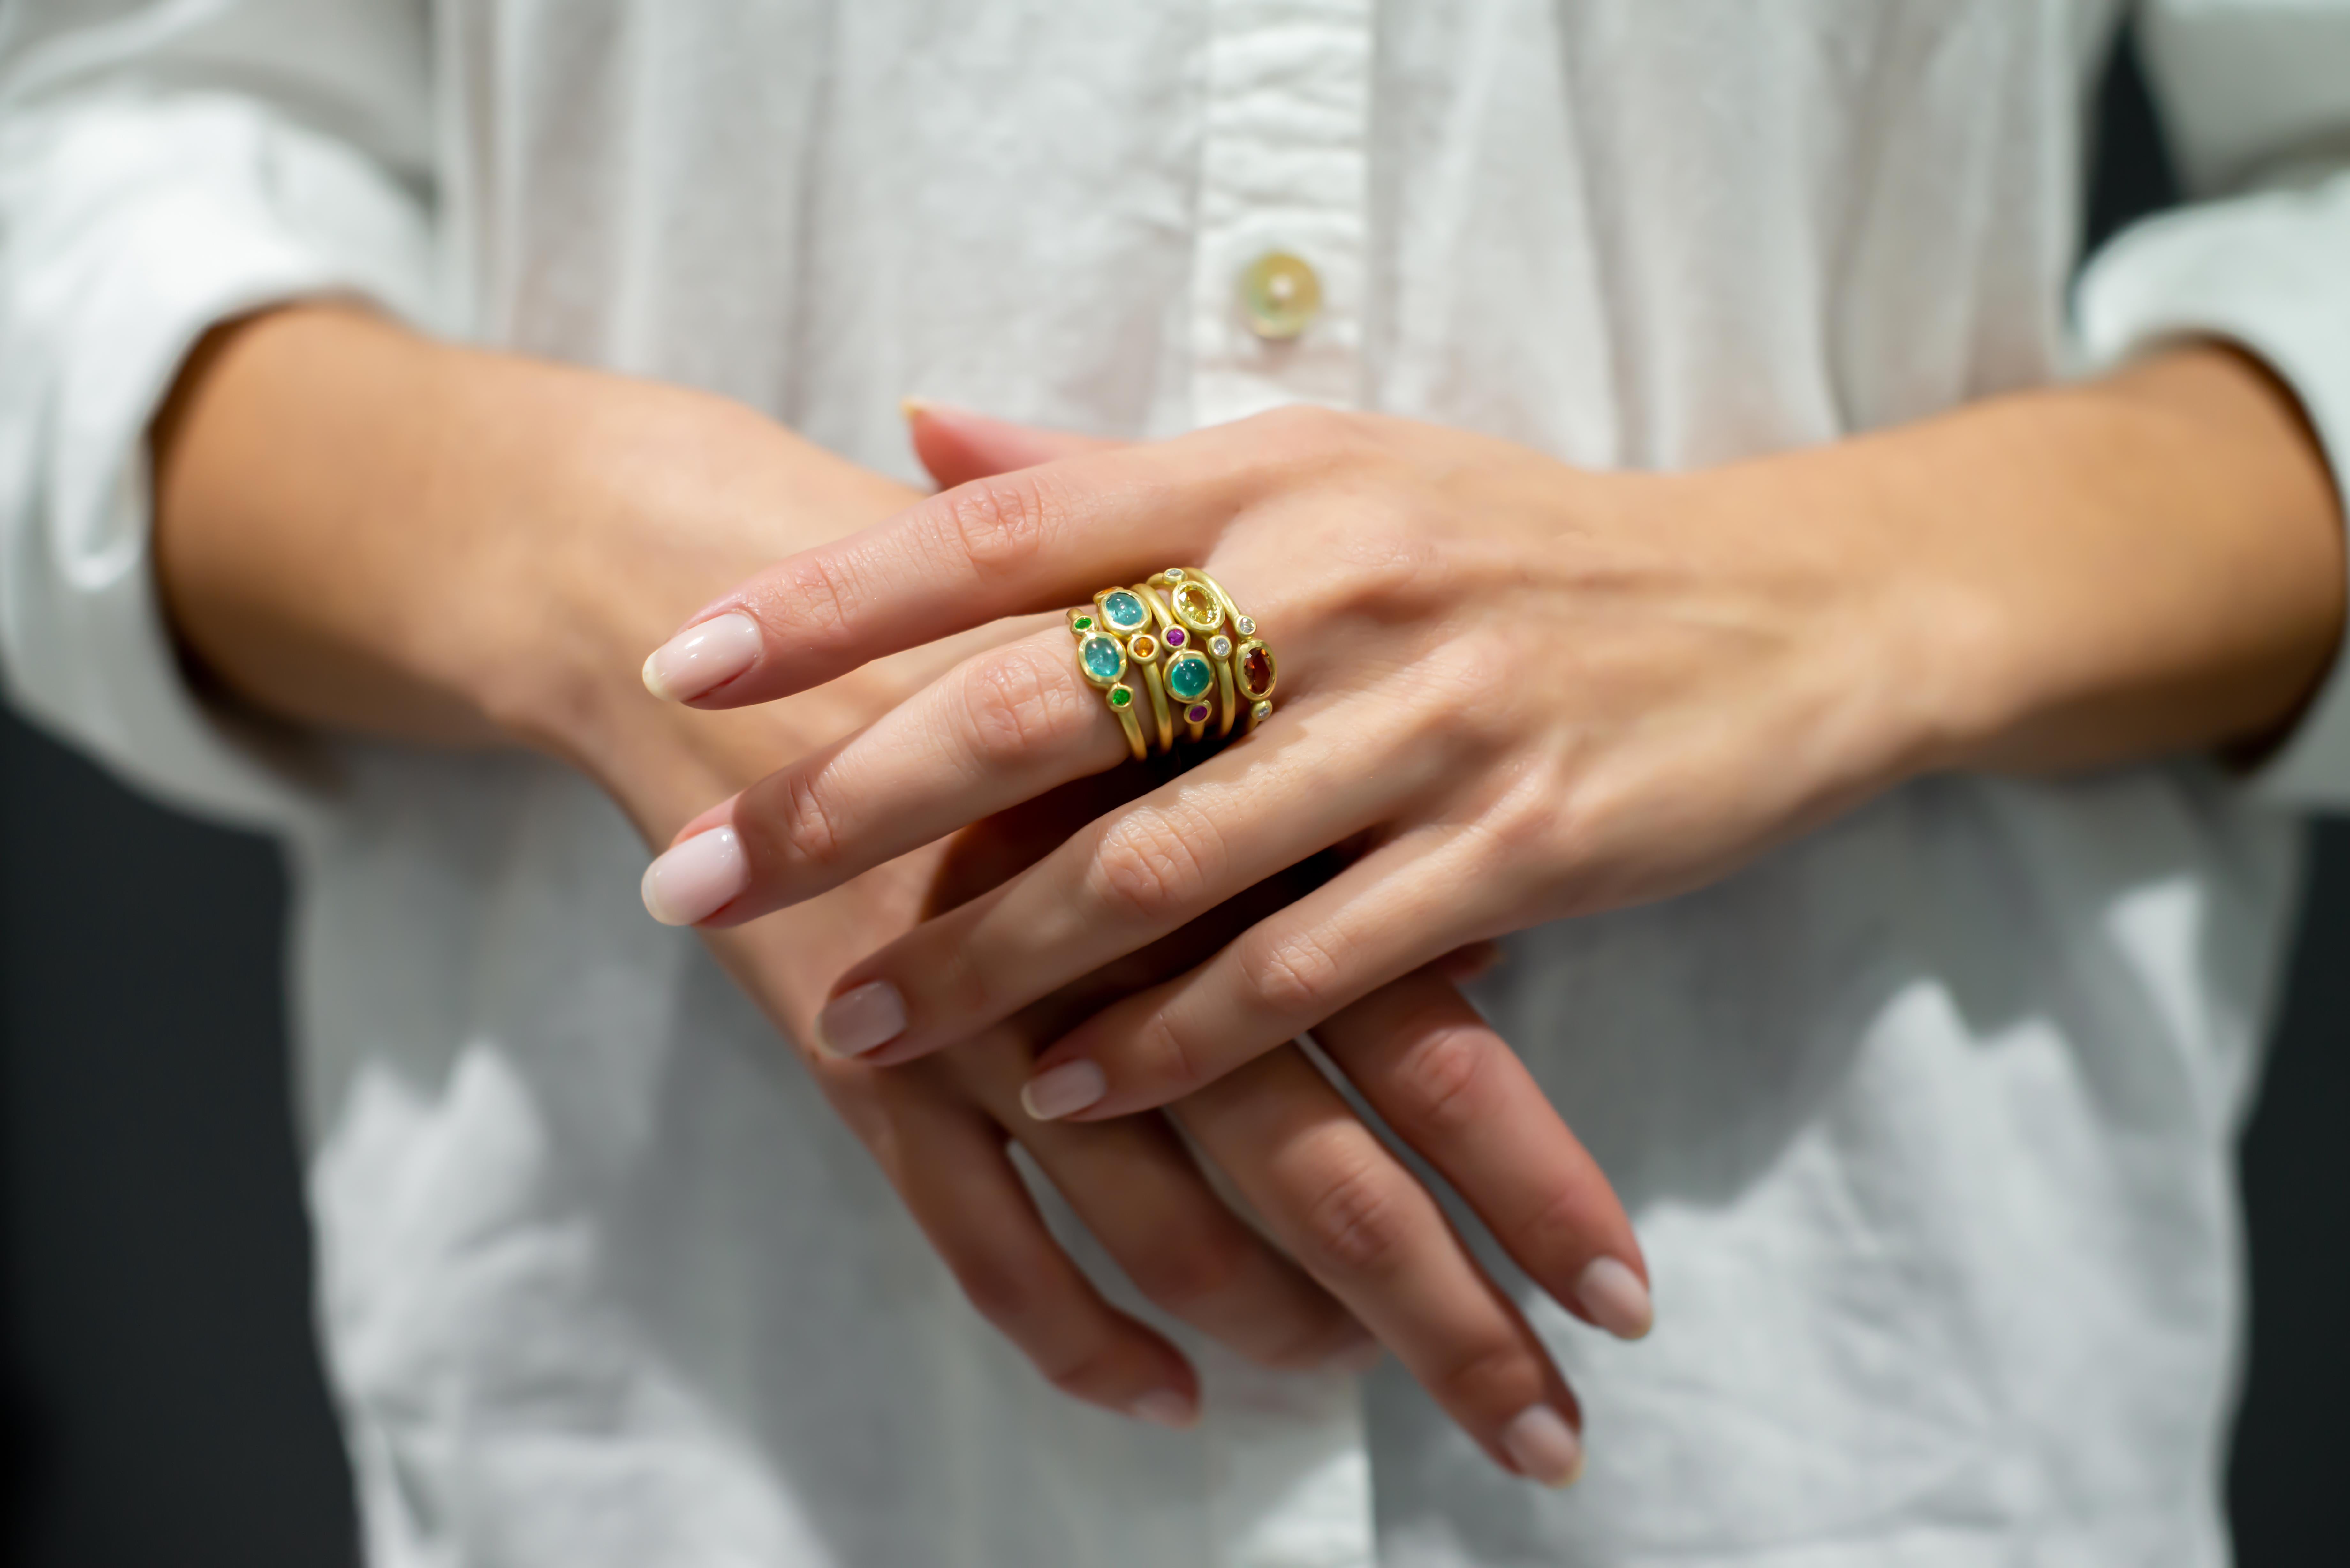
[[[1363,395],[1370,0],[1213,0],[1191,418]]]

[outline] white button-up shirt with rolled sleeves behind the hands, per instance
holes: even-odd
[[[179,355],[317,292],[728,393],[905,477],[905,393],[1114,435],[1316,400],[1685,468],[2174,331],[2265,355],[2341,473],[2350,7],[2148,9],[2214,200],[2115,244],[2073,331],[2113,12],[0,14],[9,693],[291,846],[320,1324],[371,1561],[2225,1561],[2228,1154],[2296,858],[2244,788],[1936,778],[1518,940],[1483,999],[1631,1204],[1659,1305],[1614,1345],[1520,1284],[1589,1410],[1553,1495],[1394,1368],[1210,1359],[1191,1434],[1048,1392],[637,907],[616,809],[529,757],[352,745],[303,783],[190,701],[146,550]],[[1271,247],[1325,292],[1290,348],[1234,308]],[[2265,790],[2350,797],[2345,686]]]

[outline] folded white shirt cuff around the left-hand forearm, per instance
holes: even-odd
[[[303,296],[432,320],[421,202],[244,99],[108,101],[0,141],[0,668],[31,719],[242,825],[310,790],[188,684],[150,550],[148,423],[214,324]]]

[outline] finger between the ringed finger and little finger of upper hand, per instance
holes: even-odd
[[[825,1041],[874,1051],[877,1063],[952,1046],[1368,830],[1443,773],[1436,748],[1384,755],[1365,750],[1377,745],[1365,733],[1379,731],[1344,708],[1276,715],[1250,745],[1081,827],[1027,872],[848,969],[818,1020]],[[895,1032],[884,1037],[884,1023]]]

